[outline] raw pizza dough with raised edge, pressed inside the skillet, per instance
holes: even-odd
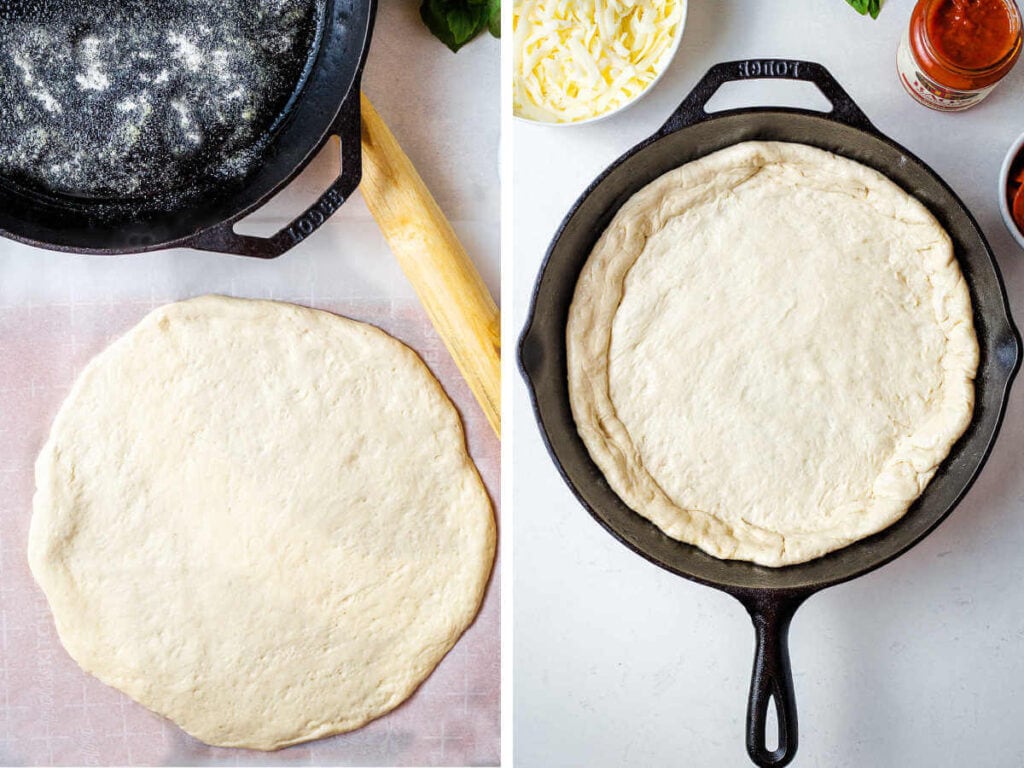
[[[948,236],[885,176],[803,144],[736,144],[634,195],[583,269],[567,346],[612,489],[763,565],[895,522],[974,409]]]

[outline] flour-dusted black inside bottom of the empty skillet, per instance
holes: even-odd
[[[0,174],[86,198],[242,179],[324,0],[0,0]]]

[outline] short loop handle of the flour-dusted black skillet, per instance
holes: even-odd
[[[341,173],[315,203],[269,238],[239,234],[234,231],[234,224],[238,221],[236,219],[202,231],[182,245],[198,251],[216,251],[259,259],[274,259],[299,245],[318,229],[331,214],[341,208],[359,185],[362,179],[360,123],[359,83],[356,79],[348,95],[345,96],[330,131],[332,135],[341,139]]]

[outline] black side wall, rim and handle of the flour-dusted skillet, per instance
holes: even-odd
[[[44,195],[0,179],[0,234],[76,253],[196,248],[280,256],[323,224],[359,184],[359,81],[376,11],[377,0],[326,0],[303,82],[243,184],[168,205],[161,194],[166,190],[128,204]],[[269,238],[236,233],[234,223],[284,188],[332,135],[341,138],[342,168],[319,200]]]

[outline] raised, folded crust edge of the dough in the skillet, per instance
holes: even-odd
[[[851,194],[869,190],[871,205],[882,213],[924,226],[935,236],[923,254],[923,268],[933,284],[933,306],[944,311],[943,317],[937,317],[946,336],[943,399],[936,409],[942,419],[937,426],[919,429],[897,444],[876,479],[872,497],[865,500],[862,514],[848,529],[780,534],[678,507],[646,472],[609,394],[606,361],[611,323],[622,301],[626,275],[647,239],[680,211],[728,191],[772,163],[830,166],[842,175],[844,189],[848,182]],[[581,271],[565,340],[569,401],[577,429],[612,490],[667,536],[721,559],[769,567],[794,565],[888,527],[924,492],[970,425],[974,412],[978,341],[970,293],[948,234],[920,201],[885,175],[806,144],[734,144],[669,171],[633,195],[612,217]]]

